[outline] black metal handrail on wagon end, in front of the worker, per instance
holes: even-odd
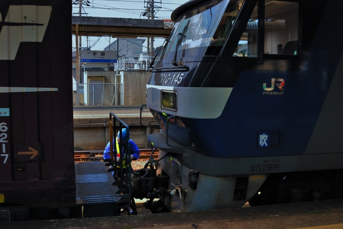
[[[130,131],[129,131],[129,126],[124,123],[121,119],[119,119],[113,112],[109,112],[109,120],[112,121],[112,116],[113,116],[113,126],[112,126],[112,131],[113,133],[116,133],[116,121],[119,122],[119,139],[121,142],[123,142],[123,133],[122,133],[122,129],[123,129],[123,126],[125,127],[126,129],[126,139],[127,141],[125,142],[125,178],[124,178],[124,169],[123,169],[123,152],[122,150],[120,150],[120,152],[117,152],[119,153],[120,155],[120,172],[121,172],[121,180],[120,180],[120,189],[121,190],[124,190],[123,189],[123,186],[124,186],[124,181],[125,181],[125,193],[121,194],[121,196],[129,196],[129,200],[131,200],[131,170],[129,169],[129,165],[131,164],[130,161],[131,161],[131,151],[130,151]],[[113,134],[112,134],[113,135]],[[115,157],[113,157],[113,149],[114,149],[114,144],[113,144],[113,136],[110,135],[109,138],[110,138],[110,148],[111,148],[111,151],[110,151],[110,165],[114,166],[114,171],[115,171],[115,174],[117,175],[117,172],[118,172],[118,167],[117,167],[117,155]],[[114,139],[114,138],[113,138]],[[114,158],[114,162],[113,162],[113,158]],[[127,208],[129,207],[131,204],[131,202],[129,201],[129,204],[128,206],[120,206],[121,208]]]

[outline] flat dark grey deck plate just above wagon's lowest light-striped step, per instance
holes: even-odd
[[[76,184],[77,197],[115,196],[110,182]]]

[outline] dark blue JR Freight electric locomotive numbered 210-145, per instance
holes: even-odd
[[[147,83],[169,211],[342,198],[340,9],[192,0],[173,12]]]

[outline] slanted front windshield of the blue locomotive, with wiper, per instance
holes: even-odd
[[[214,0],[180,15],[162,58],[174,59],[175,55],[177,59],[185,56],[218,55],[242,3],[243,0]]]

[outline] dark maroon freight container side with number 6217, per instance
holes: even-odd
[[[71,1],[0,14],[0,203],[75,204]]]

